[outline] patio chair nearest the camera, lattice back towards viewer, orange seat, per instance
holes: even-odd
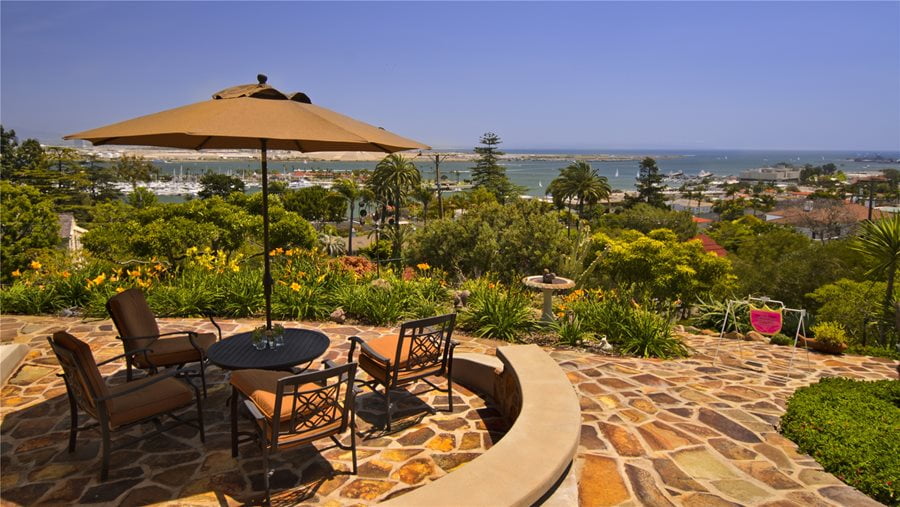
[[[263,455],[265,502],[269,503],[269,454],[329,437],[334,445],[350,450],[356,474],[356,364],[291,375],[281,371],[237,370],[231,374],[231,455],[238,455],[238,409],[243,400],[254,422]],[[278,414],[276,417],[275,414]],[[350,428],[350,445],[337,435]]]

